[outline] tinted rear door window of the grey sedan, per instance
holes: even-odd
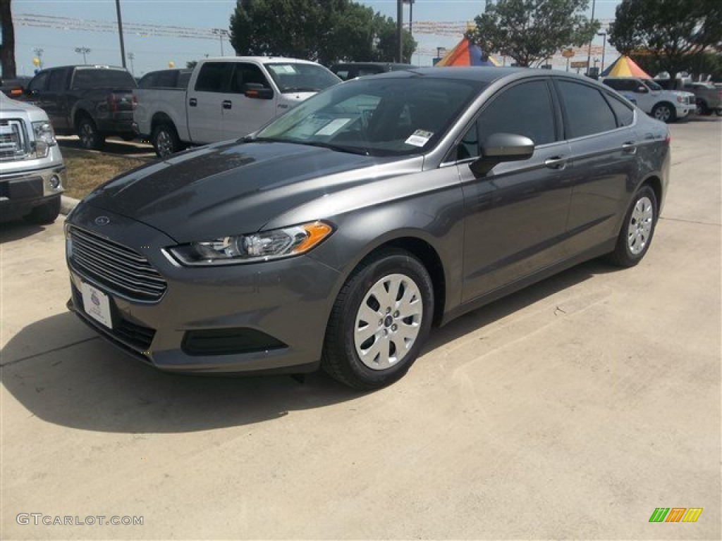
[[[617,128],[617,119],[599,90],[569,81],[560,81],[558,84],[567,113],[567,138]]]

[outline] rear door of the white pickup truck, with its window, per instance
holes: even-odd
[[[186,110],[193,143],[212,143],[225,138],[223,100],[230,88],[232,70],[231,62],[204,62],[193,87],[188,87]]]

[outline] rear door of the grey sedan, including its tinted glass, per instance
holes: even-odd
[[[556,82],[572,158],[573,190],[567,230],[570,251],[580,253],[617,237],[635,189],[638,133],[635,112],[596,85]]]

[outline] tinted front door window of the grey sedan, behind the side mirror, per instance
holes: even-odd
[[[516,133],[529,137],[535,145],[552,143],[554,109],[547,84],[544,81],[517,84],[493,98],[479,117],[482,141],[492,133]]]

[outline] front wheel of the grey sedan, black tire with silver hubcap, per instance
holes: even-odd
[[[395,291],[393,299],[376,296],[383,296],[386,286]],[[364,312],[373,321],[366,322]],[[360,263],[336,298],[323,343],[323,370],[358,390],[396,382],[419,356],[433,312],[433,285],[424,265],[404,250],[375,253]],[[364,338],[369,331],[373,334]],[[406,340],[408,346],[397,346]],[[359,351],[368,357],[362,359]]]

